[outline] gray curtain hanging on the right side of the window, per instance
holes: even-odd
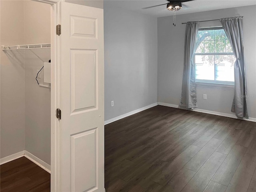
[[[248,118],[242,18],[242,16],[222,18],[220,22],[228,36],[234,56],[236,57],[234,64],[235,93],[231,111],[235,112],[239,118]]]

